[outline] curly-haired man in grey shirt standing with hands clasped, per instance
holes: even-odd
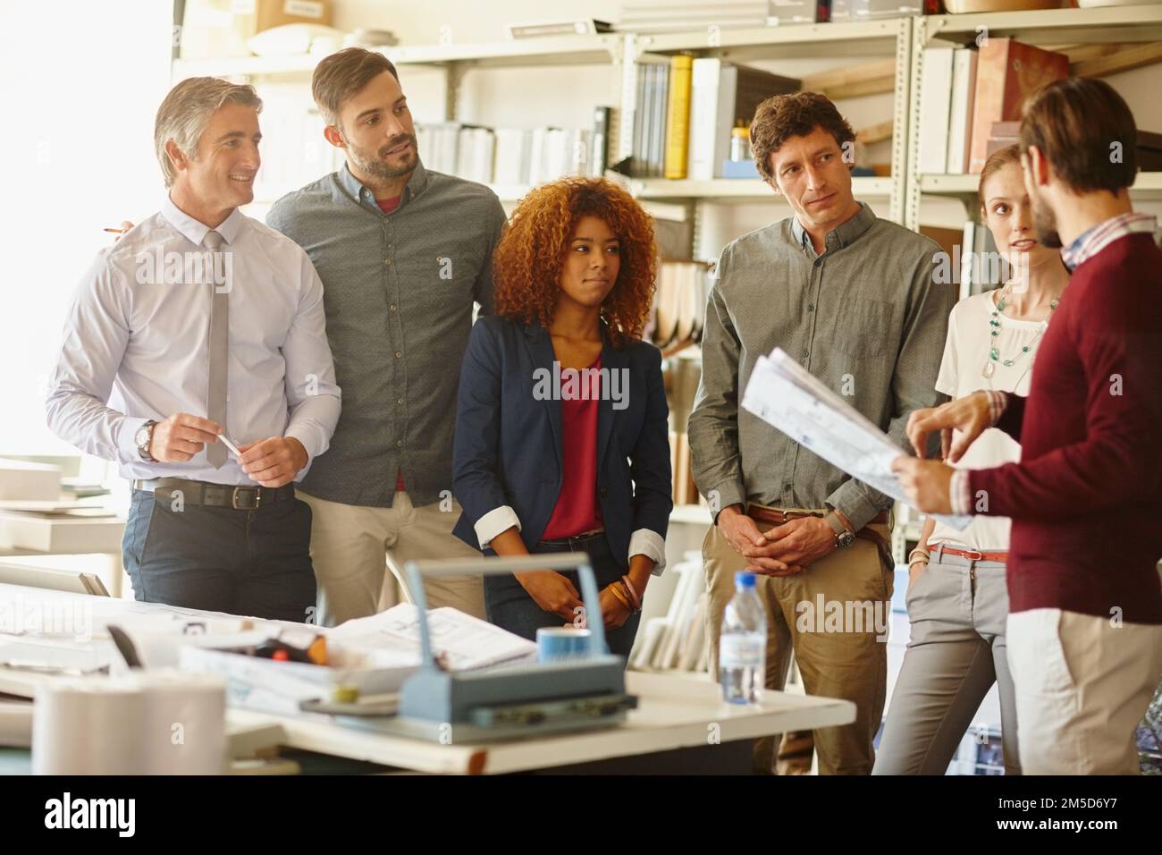
[[[820,772],[858,775],[871,771],[883,718],[891,499],[738,406],[775,347],[901,447],[908,414],[938,399],[954,301],[951,284],[933,282],[940,248],[854,199],[854,138],[817,93],[755,112],[755,163],[795,215],[723,250],[688,429],[694,478],[716,514],[703,544],[711,672],[734,572],[752,570],[767,610],[766,685],[782,689],[794,651],[808,694],[853,701],[855,722],[816,732],[815,747]],[[775,744],[756,744],[759,771],[774,765]]]

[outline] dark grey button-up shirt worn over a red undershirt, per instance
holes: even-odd
[[[327,335],[343,389],[330,450],[304,492],[389,507],[397,472],[416,505],[452,490],[452,427],[473,302],[492,311],[492,254],[504,226],[481,184],[416,166],[383,214],[346,166],[271,208],[323,280]]]

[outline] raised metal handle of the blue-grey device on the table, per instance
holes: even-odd
[[[444,561],[409,561],[403,565],[411,589],[411,599],[419,614],[419,650],[425,668],[436,667],[432,653],[431,634],[428,629],[428,597],[424,593],[424,576],[466,576],[481,573],[500,576],[502,573],[523,570],[576,570],[581,582],[581,601],[584,603],[586,626],[589,629],[589,656],[595,658],[605,654],[605,627],[601,619],[601,600],[597,598],[597,578],[594,576],[589,556],[584,553],[552,553],[548,555],[529,555],[515,558],[450,558]],[[597,620],[589,620],[596,615]]]

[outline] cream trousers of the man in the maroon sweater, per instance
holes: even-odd
[[[1026,775],[1138,775],[1134,729],[1162,677],[1162,626],[1060,608],[1009,615]]]

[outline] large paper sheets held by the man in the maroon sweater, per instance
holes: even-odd
[[[891,471],[891,462],[904,450],[782,348],[775,348],[769,357],[759,357],[743,394],[743,408],[853,478],[910,504]],[[962,529],[973,518],[937,519]]]

